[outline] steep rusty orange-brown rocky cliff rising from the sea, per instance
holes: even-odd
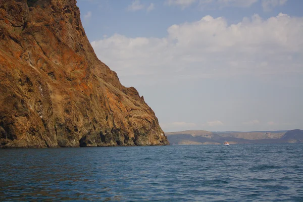
[[[85,35],[75,0],[0,0],[0,146],[168,144]]]

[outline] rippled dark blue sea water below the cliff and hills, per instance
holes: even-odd
[[[0,201],[303,201],[303,144],[0,149]]]

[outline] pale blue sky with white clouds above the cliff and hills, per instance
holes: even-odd
[[[165,132],[303,129],[303,1],[78,0],[94,51]]]

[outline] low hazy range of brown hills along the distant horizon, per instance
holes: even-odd
[[[224,141],[228,141],[230,144],[303,142],[303,130],[259,132],[186,130],[168,132],[166,136],[171,144],[222,144]]]

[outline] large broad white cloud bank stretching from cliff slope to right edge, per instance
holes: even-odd
[[[125,85],[303,73],[303,18],[254,15],[229,25],[205,16],[167,32],[163,38],[114,34],[91,44]]]

